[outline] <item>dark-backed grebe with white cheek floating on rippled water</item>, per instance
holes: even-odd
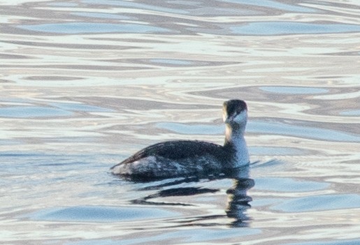
[[[222,118],[224,146],[197,140],[161,142],[136,152],[110,170],[114,175],[134,179],[165,179],[217,175],[248,165],[245,101],[225,101]]]

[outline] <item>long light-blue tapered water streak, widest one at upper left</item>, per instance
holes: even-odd
[[[42,31],[51,34],[85,34],[85,33],[149,33],[166,32],[160,27],[145,24],[108,24],[89,22],[69,22],[56,24],[23,24],[18,26],[29,31]]]

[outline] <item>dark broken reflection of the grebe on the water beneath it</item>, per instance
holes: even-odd
[[[226,191],[227,203],[225,208],[226,216],[232,218],[233,221],[230,223],[231,227],[246,227],[248,225],[247,221],[250,218],[247,216],[247,209],[251,207],[250,203],[252,198],[247,195],[247,191],[254,186],[254,180],[250,179],[249,176],[249,167],[243,167],[238,169],[231,169],[226,172],[224,175],[219,176],[210,176],[208,177],[210,181],[216,179],[232,179],[233,186]],[[156,190],[156,193],[147,195],[143,198],[133,200],[134,204],[141,205],[171,205],[171,206],[194,206],[189,203],[182,202],[161,202],[153,201],[154,198],[166,198],[166,197],[176,197],[176,196],[192,196],[200,195],[205,193],[217,193],[220,191],[216,188],[201,188],[201,187],[171,187],[178,186],[184,183],[196,183],[200,179],[197,178],[185,178],[185,179],[175,179],[170,182],[160,183],[153,186],[146,186],[141,188],[142,191]],[[170,187],[170,188],[169,188]],[[164,189],[166,188],[166,189]],[[194,225],[194,221],[207,221],[209,219],[223,218],[224,215],[210,215],[210,216],[198,216],[192,217],[191,220],[181,221],[181,223],[188,223],[187,225]],[[180,223],[180,222],[179,222]],[[191,223],[191,224],[189,224]],[[200,224],[201,225],[201,224]],[[210,225],[206,223],[206,225]],[[218,224],[214,224],[218,225]]]

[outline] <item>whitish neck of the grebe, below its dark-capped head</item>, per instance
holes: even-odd
[[[234,153],[234,167],[247,165],[250,162],[249,152],[244,138],[245,125],[231,126],[226,124],[224,147],[231,149]]]

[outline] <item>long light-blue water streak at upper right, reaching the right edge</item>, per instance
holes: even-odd
[[[266,36],[360,32],[356,24],[314,24],[305,22],[250,22],[230,27],[233,34]]]

